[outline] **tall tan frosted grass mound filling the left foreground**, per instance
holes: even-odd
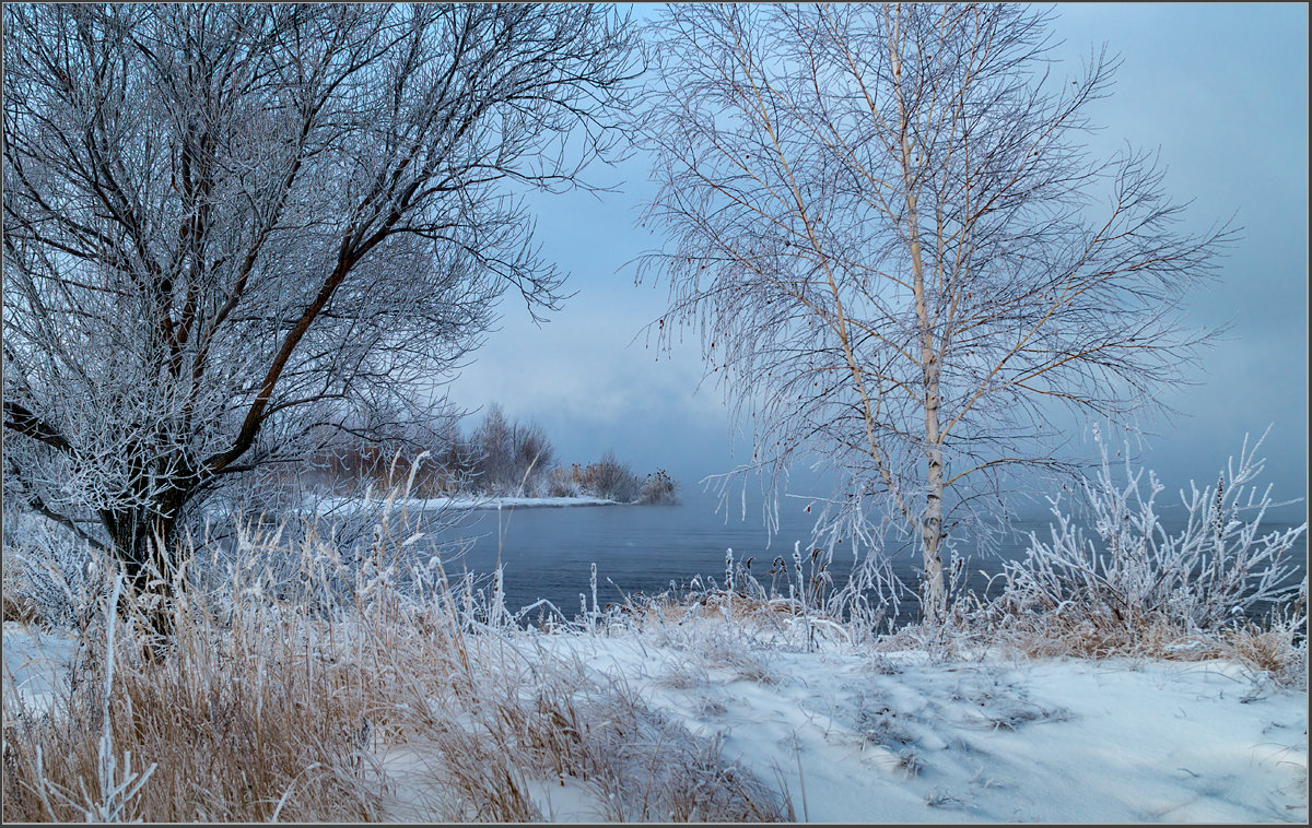
[[[394,586],[395,545],[345,592],[311,541],[239,548],[207,550],[210,587],[169,604],[165,646],[142,607],[102,614],[47,713],[7,705],[5,821],[535,821],[551,814],[534,791],[568,780],[604,820],[792,818],[718,743],[466,612],[440,569]],[[129,756],[148,772],[135,791]]]

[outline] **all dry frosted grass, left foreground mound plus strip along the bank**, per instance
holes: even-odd
[[[416,533],[404,512],[382,512],[373,545],[349,563],[312,532],[282,537],[248,532],[236,552],[201,544],[206,559],[176,574],[176,600],[142,599],[130,617],[105,613],[115,605],[105,584],[89,591],[100,612],[73,613],[80,656],[49,711],[5,693],[5,821],[537,821],[556,816],[544,786],[562,785],[593,803],[575,815],[584,819],[795,819],[782,785],[744,772],[718,742],[552,656],[548,635],[516,628],[495,599],[454,596],[440,563],[403,565],[420,557],[407,552]],[[761,652],[821,643],[939,659],[985,649],[1227,658],[1305,680],[1303,604],[1263,628],[1202,634],[1077,601],[1048,612],[960,603],[946,625],[872,639],[737,583],[594,607],[556,628],[640,630],[689,654],[693,684],[708,671],[768,684]],[[7,620],[37,620],[41,608],[9,601],[9,586]],[[164,646],[151,633],[156,609],[172,630]]]

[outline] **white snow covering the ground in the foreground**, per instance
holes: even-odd
[[[646,631],[509,634],[520,654],[625,687],[821,823],[1305,823],[1307,693],[1223,662],[932,659],[838,639],[813,651],[723,618]],[[535,654],[535,655],[533,655]],[[43,706],[67,637],[4,628],[5,693]],[[537,671],[534,671],[537,672]],[[379,747],[392,772],[416,745]],[[398,777],[391,811],[422,820]],[[596,820],[602,794],[537,780],[552,821]],[[408,795],[413,793],[415,795]]]

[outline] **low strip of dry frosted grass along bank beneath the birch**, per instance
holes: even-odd
[[[714,637],[695,621],[722,622]],[[810,647],[841,643],[874,652],[922,652],[933,662],[983,659],[989,654],[1019,658],[1141,658],[1165,660],[1229,660],[1254,677],[1294,689],[1307,685],[1307,614],[1299,597],[1263,624],[1242,621],[1199,630],[1186,618],[1164,612],[1115,616],[1096,601],[1067,601],[1047,611],[1022,609],[1005,600],[962,596],[939,625],[907,624],[870,635],[799,601],[724,590],[642,596],[618,608],[610,624],[636,629],[651,641],[687,651],[681,669],[663,677],[668,687],[694,687],[708,669],[737,672],[769,684],[771,675],[754,647]],[[601,628],[605,630],[605,625]]]

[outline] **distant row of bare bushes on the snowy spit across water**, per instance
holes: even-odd
[[[558,465],[555,448],[542,426],[512,421],[496,402],[468,432],[461,430],[455,418],[413,431],[408,439],[392,443],[359,439],[323,452],[312,459],[311,476],[338,490],[358,483],[394,486],[409,481],[412,497],[420,498],[464,494],[677,502],[677,483],[664,469],[639,477],[611,449],[596,462]]]

